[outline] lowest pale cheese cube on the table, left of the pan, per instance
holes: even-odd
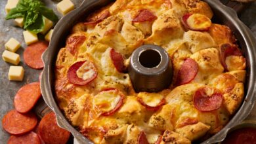
[[[24,69],[22,66],[11,66],[8,73],[9,81],[22,81]]]

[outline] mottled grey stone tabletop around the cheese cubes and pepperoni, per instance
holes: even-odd
[[[52,7],[53,10],[56,12],[56,3],[57,1],[51,1],[51,0],[42,0],[44,1],[47,6]],[[72,0],[76,7],[83,1],[83,0]],[[19,65],[22,65],[25,69],[25,77],[24,81],[22,82],[10,82],[8,80],[8,71],[11,64],[3,62],[3,60],[0,60],[0,120],[2,120],[3,115],[13,109],[13,98],[16,94],[17,90],[23,86],[24,84],[38,81],[39,73],[41,70],[35,70],[28,67],[23,60],[23,52],[26,48],[26,44],[24,43],[24,38],[22,35],[23,29],[19,27],[15,27],[12,20],[5,20],[5,5],[7,3],[7,0],[1,0],[0,1],[0,54],[3,54],[3,50],[5,50],[5,43],[11,38],[14,37],[20,43],[22,43],[22,47],[18,50],[18,54],[20,54],[21,57],[21,63]],[[58,14],[58,12],[56,12]],[[58,14],[58,16],[61,16]],[[249,7],[241,14],[240,16],[241,20],[253,31],[256,37],[256,2],[249,5]],[[256,108],[255,108],[256,112]],[[1,124],[0,124],[1,125]],[[5,132],[0,126],[0,143],[7,143],[7,140],[9,138],[9,134]]]

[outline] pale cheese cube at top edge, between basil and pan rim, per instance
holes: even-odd
[[[74,9],[75,9],[75,5],[70,0],[60,1],[60,3],[58,3],[57,5],[58,12],[62,13],[63,15],[67,14],[68,12]]]

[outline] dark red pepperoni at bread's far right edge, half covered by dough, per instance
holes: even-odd
[[[225,71],[228,71],[226,66],[226,57],[228,56],[242,56],[242,52],[236,45],[230,45],[228,43],[221,45],[221,64]]]

